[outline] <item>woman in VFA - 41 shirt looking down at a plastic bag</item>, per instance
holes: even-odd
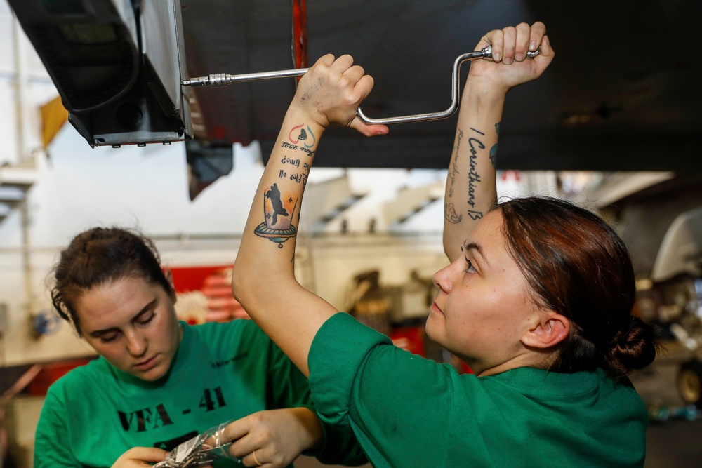
[[[287,467],[303,450],[326,463],[366,462],[349,432],[319,421],[307,379],[255,323],[178,321],[147,237],[88,229],[53,276],[55,309],[99,356],[48,389],[34,467],[143,467],[232,420],[219,440],[233,441],[235,458],[215,467]]]

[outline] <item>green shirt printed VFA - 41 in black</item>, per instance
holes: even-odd
[[[187,326],[168,374],[146,382],[102,357],[48,389],[34,442],[35,468],[111,467],[129,448],[178,444],[256,411],[313,408],[305,376],[256,323]],[[349,431],[324,424],[323,462],[362,464]],[[220,460],[216,467],[241,464]]]

